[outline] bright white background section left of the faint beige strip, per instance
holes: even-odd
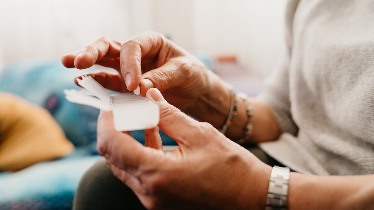
[[[0,46],[6,62],[59,58],[101,35],[128,37],[120,0],[0,0]]]

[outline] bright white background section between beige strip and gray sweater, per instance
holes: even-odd
[[[195,0],[194,44],[212,55],[231,53],[266,76],[283,41],[285,0]]]

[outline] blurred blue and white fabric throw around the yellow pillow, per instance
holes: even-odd
[[[64,89],[80,89],[73,78],[88,70],[65,68],[60,61],[28,61],[0,71],[0,92],[9,92],[46,108],[62,127],[76,151],[59,160],[38,163],[19,172],[0,173],[0,209],[68,210],[83,173],[100,157],[96,152],[99,110],[70,103]],[[1,135],[1,134],[0,134]],[[131,135],[144,144],[144,131]],[[164,145],[175,141],[160,132]],[[32,148],[30,148],[32,149]]]

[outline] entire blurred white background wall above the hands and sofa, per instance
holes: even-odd
[[[6,63],[58,59],[102,35],[124,41],[153,30],[187,50],[237,55],[249,71],[264,76],[279,53],[285,2],[0,0],[0,49]]]

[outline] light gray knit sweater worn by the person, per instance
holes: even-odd
[[[258,96],[280,128],[261,148],[315,175],[374,173],[374,1],[291,0],[281,62]]]

